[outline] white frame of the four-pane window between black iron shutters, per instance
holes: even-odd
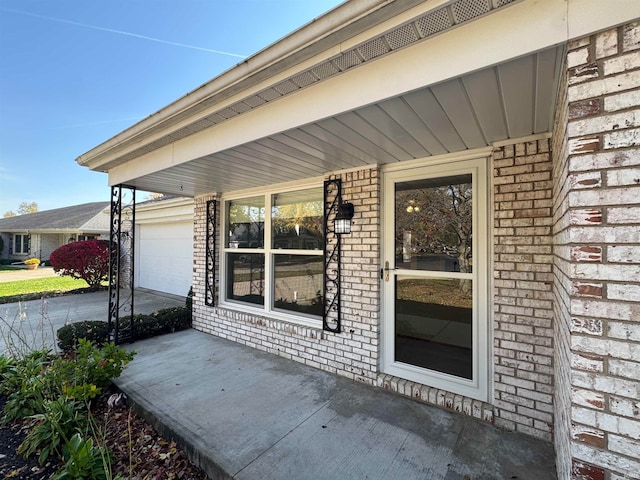
[[[271,198],[274,194],[295,192],[299,190],[308,190],[314,188],[323,187],[323,180],[314,180],[313,182],[295,183],[282,187],[273,187],[269,189],[249,190],[243,192],[233,192],[224,195],[220,199],[220,270],[219,270],[219,288],[220,288],[220,303],[219,305],[224,308],[232,310],[251,313],[254,315],[268,316],[276,320],[282,320],[289,323],[299,324],[310,328],[322,328],[322,317],[315,317],[306,315],[304,313],[287,313],[284,310],[275,309],[273,307],[273,275],[274,275],[274,253],[282,253],[282,250],[273,248],[271,241]],[[231,200],[241,200],[243,198],[260,197],[263,196],[265,203],[265,218],[264,218],[264,248],[252,248],[252,249],[237,249],[229,248],[226,246],[227,235],[227,202]],[[324,213],[324,212],[323,212]],[[324,239],[323,239],[324,243]],[[294,255],[318,255],[324,258],[324,248],[319,250],[287,250]],[[264,305],[252,305],[249,303],[229,300],[227,298],[227,253],[262,253],[265,258],[265,290],[264,290]]]

